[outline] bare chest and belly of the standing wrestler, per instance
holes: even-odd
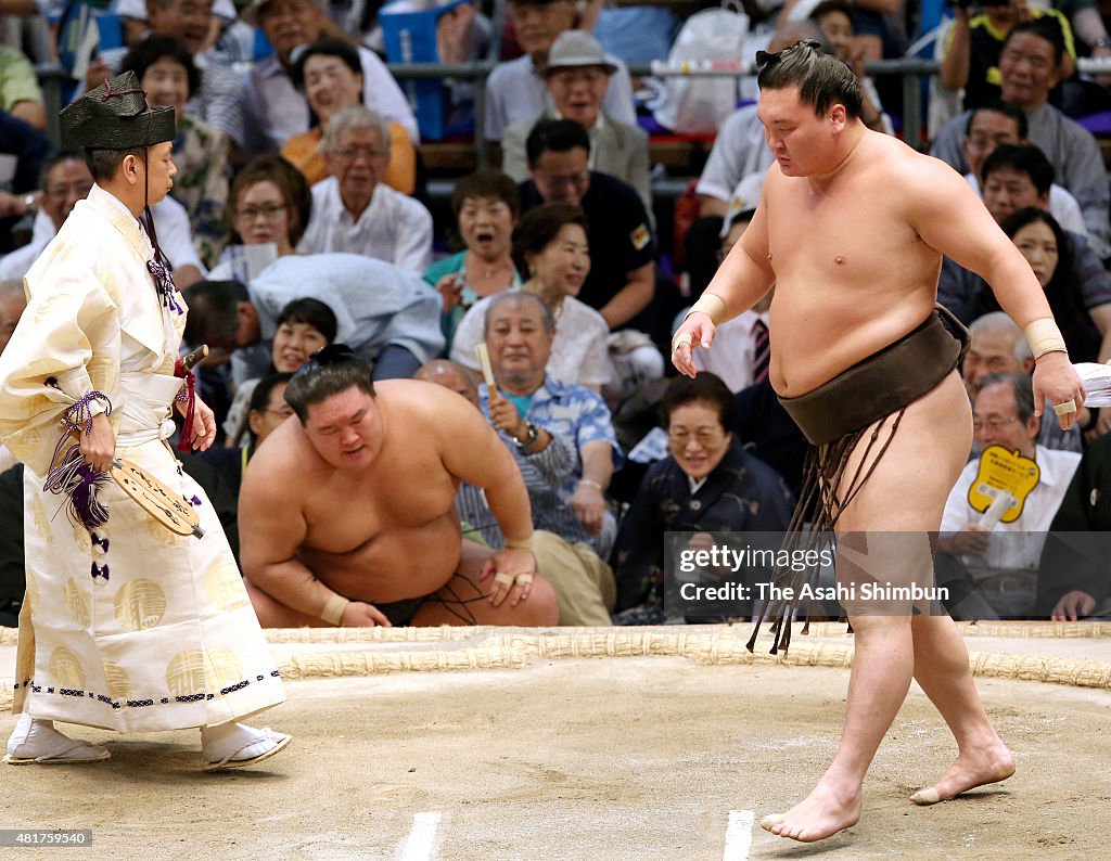
[[[950,170],[883,134],[864,134],[828,182],[764,182],[764,231],[749,231],[771,267],[775,298],[771,382],[803,394],[923,322],[937,297],[941,253],[911,227],[908,170]]]

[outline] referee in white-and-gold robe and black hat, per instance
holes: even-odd
[[[27,273],[27,311],[0,357],[0,441],[27,465],[28,512],[4,761],[109,758],[56,730],[61,720],[198,727],[209,769],[250,765],[289,735],[237,721],[284,691],[212,504],[166,443],[174,404],[187,447],[216,438],[177,362],[184,302],[149,232],[177,172],[173,109],[151,109],[128,72],[60,119],[96,184]],[[203,537],[174,535],[132,501],[109,475],[117,458],[194,507]],[[60,503],[68,518],[52,517]]]

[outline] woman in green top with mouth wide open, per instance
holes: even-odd
[[[521,211],[517,183],[501,171],[479,170],[456,183],[451,210],[467,248],[436,261],[424,272],[424,280],[443,297],[446,356],[471,306],[522,283],[511,253],[513,226]]]

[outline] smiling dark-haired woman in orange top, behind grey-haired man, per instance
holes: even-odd
[[[359,51],[339,39],[320,39],[298,57],[292,78],[309,102],[312,128],[287,140],[281,154],[314,186],[328,178],[328,164],[320,150],[324,127],[337,111],[362,104]],[[412,194],[417,186],[417,150],[401,123],[390,122],[388,128],[390,156],[382,181],[403,194]]]

